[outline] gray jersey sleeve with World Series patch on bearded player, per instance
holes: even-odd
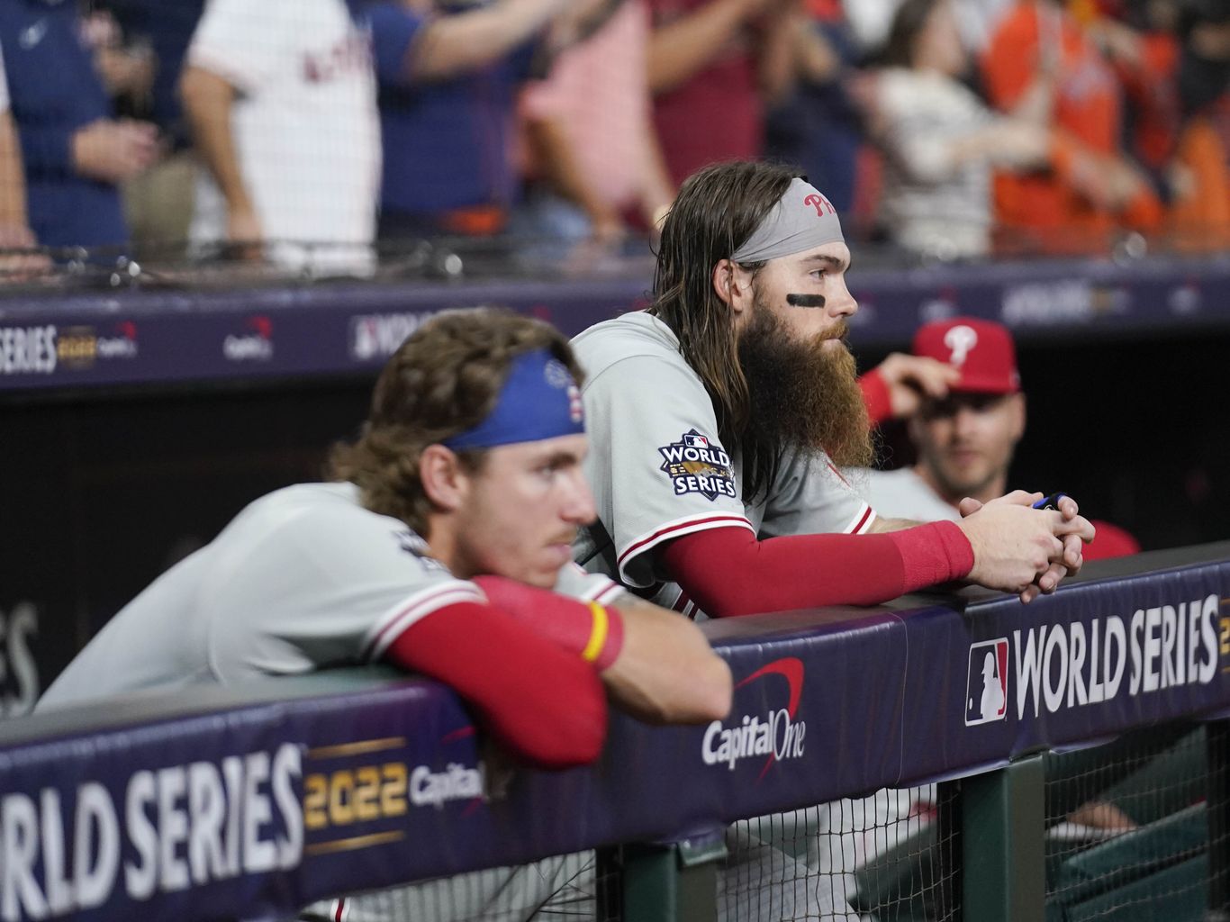
[[[649,586],[649,552],[715,527],[748,527],[734,466],[717,440],[704,385],[681,359],[635,355],[584,387],[587,473],[598,518],[614,543],[617,575]]]

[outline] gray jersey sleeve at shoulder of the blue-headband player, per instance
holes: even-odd
[[[378,660],[427,615],[486,601],[402,522],[349,503],[317,504],[246,543],[219,554],[204,583],[223,681]]]

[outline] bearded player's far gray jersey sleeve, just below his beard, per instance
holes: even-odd
[[[861,535],[875,521],[875,510],[828,455],[792,452],[782,460],[764,504],[760,536]]]

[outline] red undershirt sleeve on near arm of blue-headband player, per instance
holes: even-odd
[[[593,665],[497,607],[438,609],[402,631],[384,658],[451,686],[525,762],[569,768],[601,752],[606,696]]]

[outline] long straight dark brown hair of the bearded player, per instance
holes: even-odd
[[[700,375],[717,413],[718,438],[743,456],[743,497],[772,479],[780,445],[749,433],[748,381],[739,366],[734,318],[713,290],[713,267],[747,241],[800,171],[731,161],[690,176],[662,227],[649,312],[679,337],[679,352]],[[743,264],[755,272],[764,263]]]

